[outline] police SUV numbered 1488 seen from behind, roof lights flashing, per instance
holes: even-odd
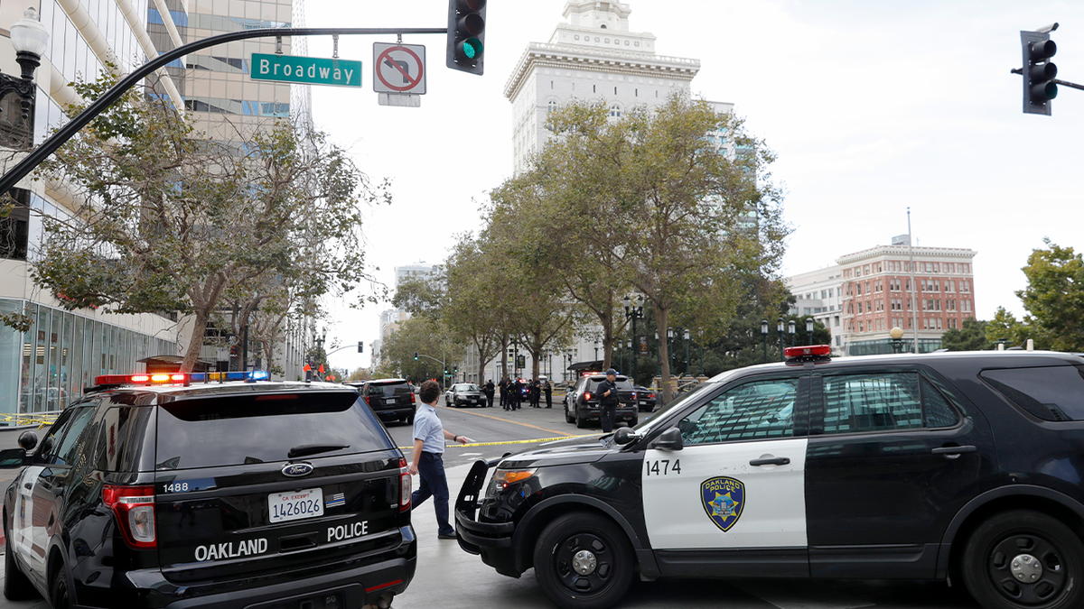
[[[0,452],[23,468],[3,497],[4,596],[357,609],[403,592],[410,475],[384,427],[352,388],[251,374],[100,376],[40,442]]]

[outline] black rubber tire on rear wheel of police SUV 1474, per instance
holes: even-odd
[[[996,556],[997,546],[1014,537],[1034,537],[1033,543],[1048,548],[1044,554],[1057,557],[1068,581],[1060,591],[1055,588],[1053,598],[1042,602],[1017,602],[990,574],[988,567]],[[1018,547],[1019,542],[1012,545]],[[967,591],[986,609],[1071,609],[1084,605],[1084,542],[1072,529],[1040,511],[1006,511],[980,524],[964,548],[962,572]],[[1040,584],[1043,581],[1041,579]]]

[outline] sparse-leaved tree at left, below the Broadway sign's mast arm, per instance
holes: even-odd
[[[76,89],[92,100],[112,85],[103,76]],[[77,220],[44,221],[35,281],[69,309],[191,314],[189,372],[223,303],[244,300],[251,312],[269,285],[288,286],[288,312],[371,280],[362,204],[382,195],[322,133],[267,127],[235,133],[241,145],[209,140],[175,108],[130,92],[42,165],[87,196]]]

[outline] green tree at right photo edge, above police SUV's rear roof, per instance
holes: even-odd
[[[1043,349],[1084,351],[1084,260],[1071,247],[1043,239],[1046,249],[1028,257],[1028,287],[1017,291],[1031,338]]]

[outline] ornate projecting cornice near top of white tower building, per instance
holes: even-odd
[[[522,88],[527,75],[532,68],[540,66],[641,76],[646,73],[673,80],[693,80],[700,70],[700,61],[635,51],[531,42],[508,77],[504,96],[514,99]]]

